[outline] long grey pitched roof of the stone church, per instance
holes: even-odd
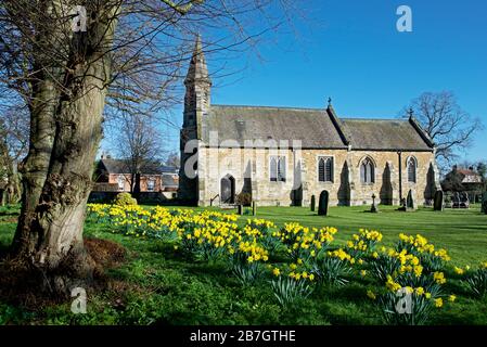
[[[212,105],[203,116],[202,140],[210,143],[212,131],[218,144],[244,146],[245,140],[302,141],[303,149],[348,149],[369,151],[433,151],[434,144],[413,119],[339,119],[333,107],[286,108]],[[278,143],[279,144],[279,143]]]

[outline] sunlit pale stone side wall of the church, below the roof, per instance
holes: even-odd
[[[303,178],[302,202],[309,206],[311,195],[317,202],[320,192],[330,192],[332,206],[362,205],[372,203],[372,194],[376,202],[399,204],[399,175],[397,152],[366,152],[346,150],[251,150],[251,149],[200,149],[200,205],[220,204],[220,180],[227,175],[235,181],[235,195],[242,191],[252,192],[253,200],[260,206],[292,206],[293,185],[298,176]],[[271,182],[270,156],[286,157],[286,181]],[[418,162],[416,183],[408,182],[407,160],[413,155]],[[334,162],[333,182],[318,181],[318,158],[331,156]],[[371,184],[362,184],[360,164],[370,156],[375,165],[375,180]],[[412,190],[419,205],[422,205],[428,190],[428,170],[434,154],[430,152],[403,152],[402,162],[402,196]],[[302,171],[294,169],[302,163]],[[387,167],[388,165],[388,167]],[[387,167],[387,169],[386,169]],[[247,178],[247,179],[245,179]],[[431,184],[431,183],[430,183]],[[297,184],[296,184],[297,185]]]

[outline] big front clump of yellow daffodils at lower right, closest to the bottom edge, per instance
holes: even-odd
[[[367,295],[377,303],[386,323],[424,324],[432,311],[441,308],[445,300],[456,300],[454,295],[444,295],[447,279],[440,271],[443,262],[432,266],[430,255],[441,261],[449,260],[449,257],[446,250],[434,249],[434,245],[421,235],[400,234],[395,248],[381,247],[372,255],[372,272],[384,287]]]

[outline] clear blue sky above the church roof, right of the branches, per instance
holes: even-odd
[[[413,31],[398,33],[396,10],[412,9]],[[307,22],[269,34],[255,54],[232,56],[213,103],[324,107],[339,116],[394,118],[424,91],[449,90],[487,126],[487,1],[315,0]],[[274,40],[274,41],[271,41]],[[221,56],[208,56],[210,69]],[[218,63],[215,63],[218,62]],[[181,101],[182,102],[182,101]],[[180,110],[174,120],[182,120]],[[168,129],[178,149],[178,133]],[[168,134],[169,134],[168,133]],[[487,130],[462,158],[487,159]]]

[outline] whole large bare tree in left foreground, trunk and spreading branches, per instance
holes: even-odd
[[[259,34],[279,24],[279,11],[289,4],[297,2],[0,3],[0,83],[25,102],[30,119],[12,256],[39,279],[36,293],[66,294],[90,285],[93,261],[82,230],[104,112],[154,112],[172,102],[196,33],[207,33],[207,51],[242,42],[252,47]]]

